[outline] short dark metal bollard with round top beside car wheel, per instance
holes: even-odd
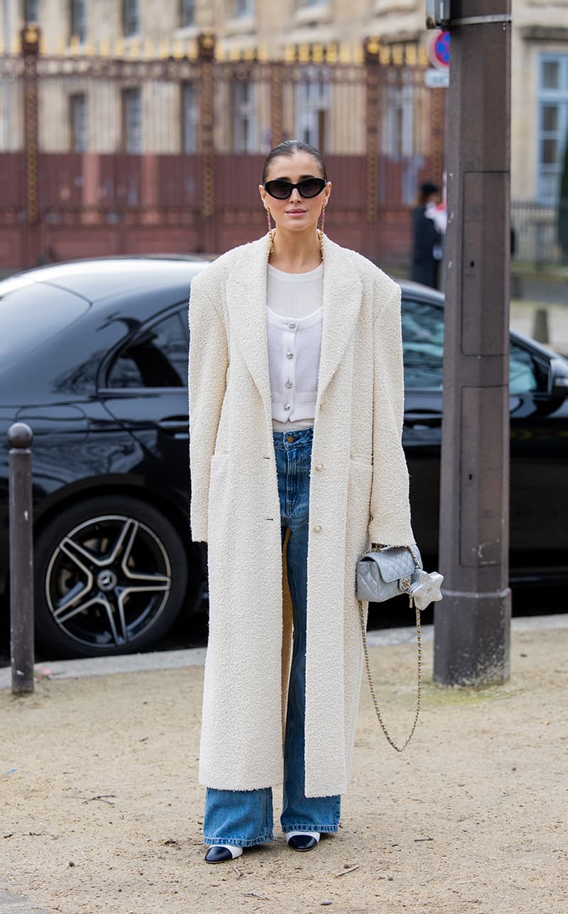
[[[34,691],[34,546],[32,537],[31,451],[34,435],[15,422],[10,446],[10,657],[12,693]]]

